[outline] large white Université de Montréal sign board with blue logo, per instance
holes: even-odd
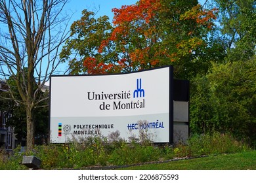
[[[169,142],[172,72],[172,67],[162,67],[119,75],[51,76],[51,142],[108,137],[115,131],[127,140],[141,129],[154,142]]]

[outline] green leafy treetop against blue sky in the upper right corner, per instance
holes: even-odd
[[[256,46],[255,0],[215,0],[219,9],[219,37],[228,61],[251,59]]]

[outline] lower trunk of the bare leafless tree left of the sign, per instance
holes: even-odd
[[[32,150],[34,146],[35,121],[33,107],[26,106],[27,114],[27,150]]]

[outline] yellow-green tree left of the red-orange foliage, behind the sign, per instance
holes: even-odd
[[[87,68],[83,67],[85,58],[101,58],[106,62],[117,60],[114,45],[109,44],[104,54],[98,53],[101,42],[110,37],[113,29],[108,16],[100,16],[96,19],[96,13],[88,10],[83,10],[82,14],[81,19],[71,25],[70,39],[66,41],[60,54],[62,61],[69,61],[69,73],[72,75],[97,72],[97,69],[90,65]]]

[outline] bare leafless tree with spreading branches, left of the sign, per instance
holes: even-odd
[[[34,144],[35,108],[48,99],[41,95],[41,88],[60,63],[58,51],[67,39],[68,16],[61,14],[66,2],[0,0],[0,75],[6,80],[13,77],[11,98],[26,108],[28,150]]]

